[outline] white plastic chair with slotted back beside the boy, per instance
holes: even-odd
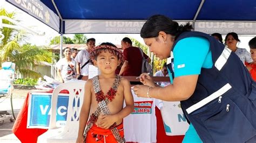
[[[83,104],[85,81],[71,81],[58,85],[52,92],[49,130],[40,135],[37,142],[76,142],[79,128],[79,114]],[[57,127],[56,108],[60,91],[69,91],[69,105],[64,127]]]

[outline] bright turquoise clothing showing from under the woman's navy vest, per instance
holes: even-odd
[[[173,50],[173,58],[174,77],[199,75],[201,68],[213,66],[210,42],[203,37],[189,37],[178,41]],[[203,142],[192,124],[183,139],[183,143],[189,142]]]

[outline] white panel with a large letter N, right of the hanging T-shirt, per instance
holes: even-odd
[[[166,135],[184,135],[189,124],[181,110],[180,102],[163,101],[161,115],[164,121]]]

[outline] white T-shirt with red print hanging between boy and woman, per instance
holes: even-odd
[[[133,112],[124,118],[124,138],[132,142],[156,142],[157,118],[156,106],[160,109],[163,102],[154,98],[137,97],[132,90],[134,99]],[[125,106],[125,105],[124,105]]]

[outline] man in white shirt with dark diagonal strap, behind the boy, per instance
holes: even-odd
[[[83,49],[82,51],[79,51],[75,58],[77,62],[76,68],[77,68],[78,80],[79,80],[79,77],[82,78],[83,75],[88,75],[89,73],[89,65],[91,65],[89,53],[91,52],[91,49],[95,47],[95,38],[87,39],[86,45],[87,45],[87,49]]]

